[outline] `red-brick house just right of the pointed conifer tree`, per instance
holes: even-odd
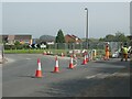
[[[79,44],[81,43],[81,40],[79,37],[77,37],[76,35],[65,35],[65,42],[66,43],[76,43],[76,44]]]

